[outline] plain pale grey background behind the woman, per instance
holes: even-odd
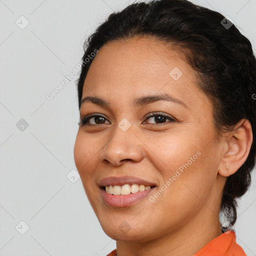
[[[256,46],[256,0],[193,2],[230,16]],[[80,61],[84,39],[129,3],[0,0],[0,255],[105,256],[115,248],[75,170],[78,76],[51,100],[46,94]],[[255,190],[254,171],[235,225],[248,256],[256,255]]]

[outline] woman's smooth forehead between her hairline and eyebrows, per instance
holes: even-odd
[[[146,38],[110,41],[99,49],[89,67],[82,98],[96,95],[125,103],[160,92],[191,105],[198,96],[204,97],[198,94],[197,82],[195,71],[179,52],[162,42]]]

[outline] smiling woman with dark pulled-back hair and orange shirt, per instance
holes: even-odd
[[[155,0],[84,46],[74,160],[108,255],[246,255],[233,225],[255,163],[249,40],[218,12]]]

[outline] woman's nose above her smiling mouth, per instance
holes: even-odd
[[[116,125],[113,133],[106,136],[106,141],[99,152],[104,164],[119,166],[125,161],[139,162],[144,157],[144,144],[131,127],[123,131]]]

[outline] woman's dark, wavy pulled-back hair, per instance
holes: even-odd
[[[251,183],[256,154],[256,61],[250,41],[222,14],[188,0],[135,2],[110,14],[84,42],[84,64],[77,82],[79,109],[84,79],[93,61],[93,57],[86,60],[88,55],[106,42],[134,36],[180,46],[186,61],[198,74],[199,88],[211,99],[218,133],[231,131],[243,118],[250,121],[253,141],[249,155],[228,176],[220,205],[226,220],[234,224],[236,199]]]

